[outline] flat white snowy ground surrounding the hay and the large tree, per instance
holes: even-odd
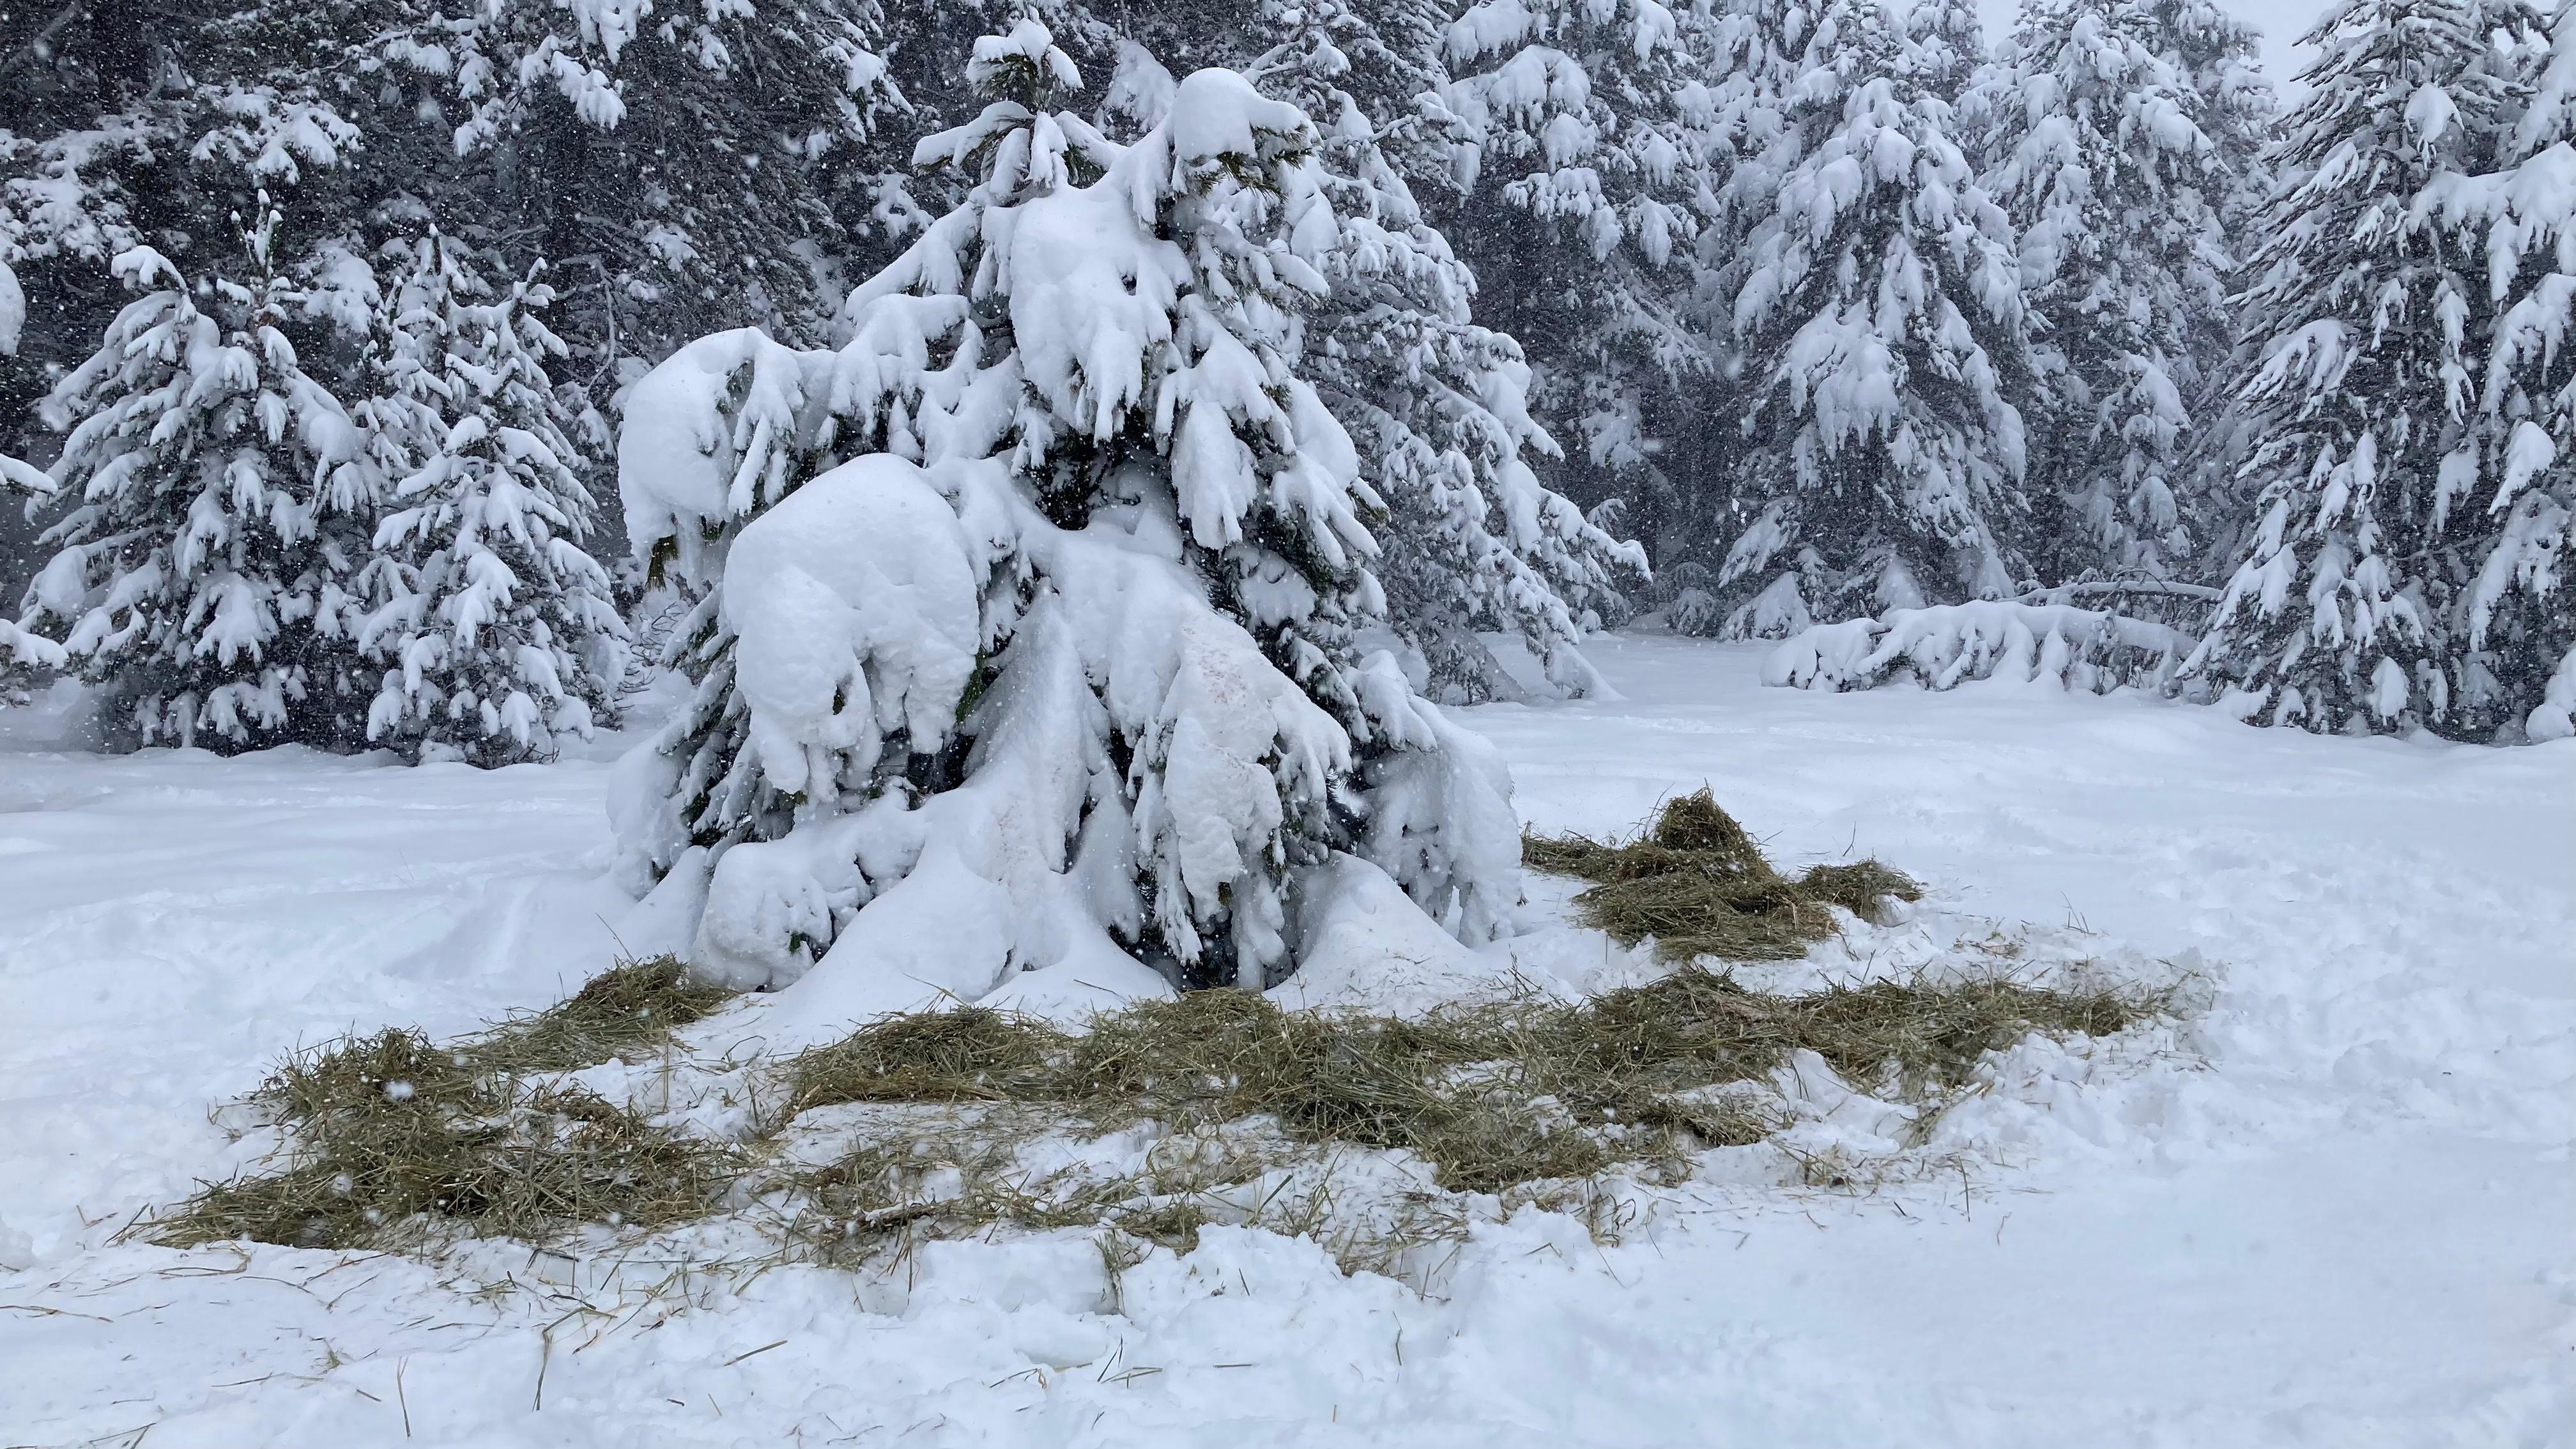
[[[1538,825],[1705,779],[1785,861],[2200,951],[2215,1003],[2154,1060],[1996,1062],[1958,1178],[1708,1183],[1607,1250],[1522,1214],[1432,1297],[1213,1227],[1115,1302],[1079,1235],[587,1299],[526,1253],[108,1245],[242,1160],[206,1111],[283,1047],[598,969],[613,745],[100,761],[18,714],[0,1444],[2576,1444],[2576,745],[1595,657],[1623,701],[1473,712]]]

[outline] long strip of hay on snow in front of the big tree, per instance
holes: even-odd
[[[1270,1119],[1311,1145],[1412,1152],[1450,1191],[1502,1191],[1759,1142],[1777,1122],[1705,1088],[1767,1080],[1801,1049],[1857,1083],[1929,1096],[2027,1031],[2107,1036],[2159,1008],[1999,980],[1762,995],[1695,967],[1577,1006],[1419,1021],[1208,990],[1103,1016],[1082,1036],[976,1008],[886,1018],[791,1062],[788,1101],[1033,1106],[1095,1134]]]

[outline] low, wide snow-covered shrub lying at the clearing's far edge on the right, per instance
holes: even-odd
[[[1762,660],[1762,683],[1852,691],[1896,678],[1927,688],[2004,678],[2110,694],[2164,686],[2192,645],[2169,624],[2071,603],[1942,603],[1816,624]]]

